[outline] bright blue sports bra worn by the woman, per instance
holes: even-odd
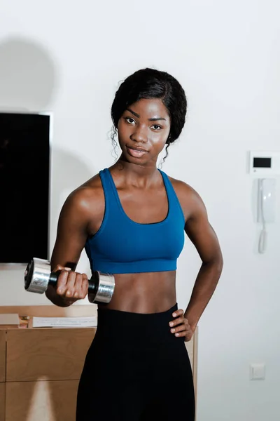
[[[167,192],[167,217],[140,224],[126,215],[109,169],[100,171],[104,218],[97,233],[85,243],[92,271],[126,274],[176,270],[185,239],[185,218],[172,183],[163,171],[160,173]]]

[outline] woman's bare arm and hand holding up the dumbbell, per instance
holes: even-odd
[[[57,238],[52,251],[52,272],[61,270],[57,287],[48,286],[46,297],[59,307],[68,307],[87,295],[86,274],[75,272],[90,221],[90,206],[84,189],[78,189],[66,199],[59,215]]]

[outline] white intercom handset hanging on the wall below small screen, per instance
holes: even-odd
[[[257,222],[262,224],[262,231],[260,232],[258,243],[259,253],[265,253],[267,245],[267,223],[275,222],[275,190],[275,178],[258,179]]]

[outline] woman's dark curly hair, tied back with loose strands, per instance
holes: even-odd
[[[167,72],[156,69],[140,69],[120,84],[111,107],[113,120],[113,143],[118,129],[120,116],[127,107],[141,99],[160,99],[167,108],[171,119],[171,127],[167,138],[166,152],[169,145],[179,138],[186,121],[186,94],[179,81]],[[165,156],[167,157],[168,152]],[[164,160],[165,160],[164,158]]]

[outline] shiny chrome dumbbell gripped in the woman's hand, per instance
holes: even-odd
[[[48,285],[56,286],[60,272],[51,272],[48,260],[33,258],[25,270],[25,289],[31,293],[43,294]],[[88,300],[96,304],[108,304],[114,288],[113,275],[95,271],[88,280]]]

